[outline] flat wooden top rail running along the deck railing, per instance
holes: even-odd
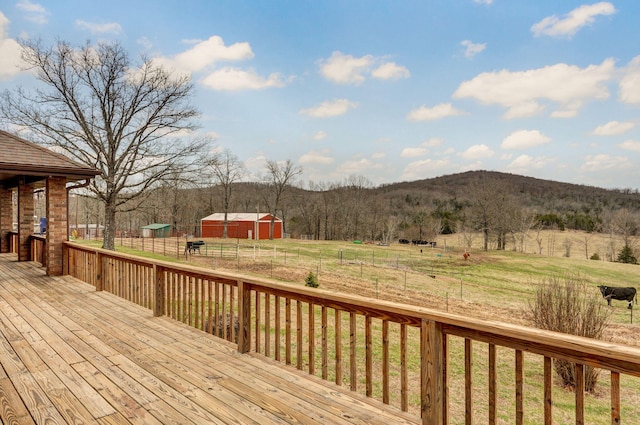
[[[65,242],[65,244],[73,249],[96,252],[105,257],[119,258],[137,264],[146,264],[150,267],[160,266],[166,270],[181,272],[188,276],[229,284],[236,284],[242,281],[245,284],[249,284],[256,291],[389,320],[408,326],[420,326],[423,320],[434,321],[441,324],[443,332],[447,334],[553,358],[565,358],[578,363],[640,377],[640,349],[636,347],[509,323],[470,318],[423,307],[374,300],[358,295],[329,292],[266,278],[256,278],[192,265],[146,259],[71,242]]]

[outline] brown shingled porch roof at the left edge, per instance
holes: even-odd
[[[30,183],[48,176],[66,177],[67,181],[93,178],[99,170],[79,164],[66,156],[0,130],[0,185],[17,186],[18,177]]]

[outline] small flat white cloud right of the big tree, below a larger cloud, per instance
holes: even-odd
[[[272,87],[284,87],[285,82],[278,73],[261,77],[254,70],[225,67],[213,71],[200,82],[213,90],[261,90]]]

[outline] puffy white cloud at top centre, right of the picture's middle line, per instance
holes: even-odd
[[[372,55],[357,58],[339,51],[320,62],[320,74],[334,83],[352,85],[362,84],[369,75],[380,80],[397,80],[410,75],[407,68],[395,62],[384,62]]]

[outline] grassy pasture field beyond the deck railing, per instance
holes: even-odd
[[[572,238],[573,247],[579,246],[585,237],[579,233],[547,235],[548,240]],[[590,236],[590,244],[594,247],[598,240],[601,246],[609,243],[606,236]],[[465,249],[460,248],[460,240],[455,235],[440,237],[436,248],[300,240],[261,241],[259,244],[242,240],[206,240],[207,245],[200,253],[186,256],[183,253],[184,238],[153,241],[156,254],[150,252],[149,241],[145,242],[144,251],[141,246],[136,246],[138,242],[125,241],[118,250],[163,259],[168,256],[200,266],[240,270],[243,274],[301,285],[307,274],[313,272],[318,275],[322,289],[523,325],[529,325],[525,311],[536,288],[550,277],[579,275],[595,294],[599,284],[636,286],[640,281],[640,266],[588,260],[584,250],[572,249],[569,256],[566,256],[566,250],[562,255],[555,251],[557,255],[540,255],[513,250],[482,251],[473,245],[469,258],[465,260],[462,255]],[[479,238],[476,242],[480,242]],[[547,246],[549,244],[551,242]],[[537,251],[537,242],[530,241],[528,246],[535,246]],[[160,252],[163,255],[158,254]],[[633,310],[627,309],[622,301],[613,301],[611,311],[607,337],[616,343],[640,346],[640,328],[635,324],[640,322],[640,318],[633,318],[634,323],[631,324]],[[342,329],[348,329],[348,325],[343,325]],[[451,338],[452,424],[464,423],[464,403],[458,398],[458,394],[464,393],[461,379],[463,344],[461,339]],[[478,388],[474,392],[474,411],[479,423],[484,422],[488,409],[487,349],[486,344],[474,344],[474,381]],[[499,348],[498,358],[499,423],[507,424],[512,423],[514,417],[514,353]],[[542,422],[542,358],[526,355],[525,364],[525,423],[538,424]],[[587,397],[587,423],[610,421],[609,399],[609,374],[604,371],[596,392]],[[623,418],[627,418],[625,422],[628,418],[640,417],[640,380],[622,377],[622,400]],[[573,393],[556,385],[554,423],[574,422],[574,403]]]

